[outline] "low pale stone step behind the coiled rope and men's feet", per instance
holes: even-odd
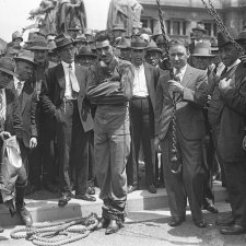
[[[226,190],[221,187],[221,184],[214,184],[213,189],[215,202],[224,201],[226,199]],[[58,197],[44,190],[36,192],[32,197],[27,197],[25,202],[26,208],[32,213],[34,222],[86,216],[91,212],[101,215],[102,201],[98,198],[98,192],[99,190],[96,190],[95,202],[72,199],[65,208],[58,207]],[[150,194],[147,190],[137,190],[128,196],[128,211],[152,210],[160,208],[168,208],[167,195],[164,188],[157,189],[156,194]],[[21,224],[21,221],[17,215],[11,218],[7,208],[1,204],[0,223],[3,226],[11,226]]]

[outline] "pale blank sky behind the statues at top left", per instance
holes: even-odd
[[[110,0],[84,0],[87,27],[104,30],[106,27],[107,11]],[[0,0],[0,37],[11,42],[12,33],[22,31],[33,24],[28,21],[28,12],[39,5],[40,0]],[[24,35],[24,39],[27,34]]]

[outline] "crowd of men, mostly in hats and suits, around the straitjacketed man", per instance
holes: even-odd
[[[38,31],[24,46],[13,33],[0,58],[0,137],[2,145],[16,136],[21,148],[16,212],[32,225],[26,194],[60,192],[65,207],[95,201],[97,186],[98,229],[116,233],[141,160],[147,190],[166,187],[171,226],[186,220],[188,198],[195,225],[206,227],[202,209],[219,212],[212,180],[221,178],[232,214],[216,220],[220,232],[246,233],[246,69],[236,47],[246,32],[206,40],[198,23],[190,44],[141,26],[125,32]]]

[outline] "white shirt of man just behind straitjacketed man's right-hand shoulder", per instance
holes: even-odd
[[[144,66],[134,67],[133,96],[149,96]]]

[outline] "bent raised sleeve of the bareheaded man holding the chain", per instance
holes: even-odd
[[[184,87],[183,101],[203,107],[207,103],[208,90],[208,75],[206,72],[200,73],[195,89]]]

